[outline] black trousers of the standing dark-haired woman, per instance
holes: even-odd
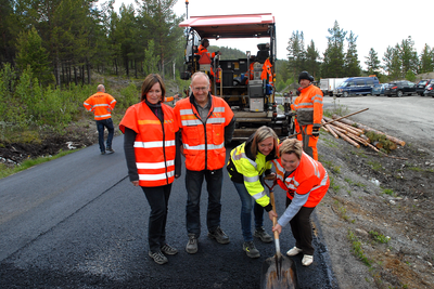
[[[164,186],[141,187],[151,206],[148,226],[148,241],[151,252],[159,251],[166,244],[166,222],[171,184]]]

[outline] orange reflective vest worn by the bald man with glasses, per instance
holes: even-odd
[[[212,107],[206,122],[203,123],[192,97],[194,96],[183,98],[175,106],[178,126],[182,132],[186,168],[191,171],[221,169],[226,159],[225,127],[233,118],[232,109],[222,98],[210,95]]]

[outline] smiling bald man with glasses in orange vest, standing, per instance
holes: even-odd
[[[208,191],[206,224],[208,237],[228,244],[229,237],[220,228],[222,167],[225,144],[230,143],[235,120],[225,100],[209,93],[209,78],[202,71],[191,77],[192,93],[177,102],[175,114],[181,130],[182,154],[186,157],[187,208],[186,226],[188,253],[197,252],[201,236],[200,200],[205,179]]]

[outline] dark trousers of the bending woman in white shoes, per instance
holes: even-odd
[[[291,199],[286,197],[286,208],[290,206]],[[303,250],[304,254],[314,255],[312,232],[310,224],[310,214],[314,212],[314,208],[302,207],[299,211],[290,221],[292,235],[295,238],[295,247]]]

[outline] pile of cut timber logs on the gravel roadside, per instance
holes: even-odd
[[[332,117],[333,119],[340,118],[336,115],[333,115]],[[331,133],[334,137],[341,137],[357,148],[360,147],[360,145],[363,145],[375,152],[380,152],[380,149],[390,152],[396,149],[397,145],[404,146],[406,144],[397,137],[387,135],[384,132],[347,118],[342,118],[335,121],[333,121],[333,119],[322,117],[322,129]],[[333,122],[327,123],[330,121]]]

